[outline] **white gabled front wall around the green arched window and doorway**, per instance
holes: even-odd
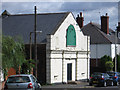
[[[76,46],[66,46],[66,31],[73,25],[76,32]],[[70,13],[54,35],[47,36],[46,77],[47,83],[68,81],[68,64],[72,65],[72,81],[89,78],[90,38],[80,31]]]

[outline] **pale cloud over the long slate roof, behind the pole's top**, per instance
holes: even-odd
[[[63,2],[5,2],[2,3],[2,9],[8,10],[11,14],[34,13],[34,6],[37,7],[38,13],[58,12]]]

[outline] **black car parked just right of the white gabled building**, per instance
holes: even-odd
[[[107,73],[95,72],[91,75],[89,85],[97,84],[98,86],[113,86],[113,79]]]

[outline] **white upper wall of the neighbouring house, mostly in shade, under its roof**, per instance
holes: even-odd
[[[117,47],[117,54],[119,54],[120,46],[117,44],[116,47]],[[91,59],[101,58],[104,55],[108,55],[113,59],[115,57],[115,44],[91,44],[90,51],[91,51],[90,54]]]

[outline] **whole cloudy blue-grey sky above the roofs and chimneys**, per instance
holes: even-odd
[[[25,2],[26,1],[26,2]],[[31,14],[34,13],[34,6],[37,6],[37,13],[56,13],[56,12],[72,12],[76,18],[77,14],[83,13],[84,25],[90,21],[101,24],[100,16],[109,16],[109,25],[113,30],[118,25],[118,0],[101,0],[106,2],[95,2],[95,0],[52,0],[40,1],[33,0],[24,2],[4,0],[2,2],[2,12],[7,10],[10,14]]]

